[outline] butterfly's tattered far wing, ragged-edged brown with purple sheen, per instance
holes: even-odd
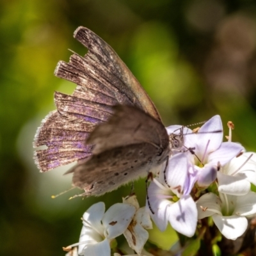
[[[55,75],[77,84],[72,95],[54,94],[57,111],[45,117],[35,135],[35,161],[42,172],[92,155],[84,145],[90,132],[113,113],[111,106],[125,104],[142,109],[156,120],[159,113],[140,83],[113,49],[90,29],[79,27],[74,37],[88,48],[60,61]]]

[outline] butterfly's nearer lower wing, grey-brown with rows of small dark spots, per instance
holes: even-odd
[[[103,195],[147,175],[155,159],[156,148],[148,143],[113,148],[77,164],[73,185],[84,189],[82,195]]]

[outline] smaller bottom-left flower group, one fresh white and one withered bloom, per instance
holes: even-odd
[[[79,243],[63,248],[69,252],[78,246],[79,255],[110,256],[111,243],[124,234],[129,246],[139,255],[148,239],[145,229],[152,228],[150,216],[135,195],[123,198],[123,203],[112,205],[105,212],[103,202],[92,205],[83,214],[83,228]]]

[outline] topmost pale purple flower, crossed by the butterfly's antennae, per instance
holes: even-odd
[[[177,131],[178,125],[168,127],[168,134]],[[223,141],[223,127],[219,115],[205,122],[198,132],[183,128],[184,148],[192,152],[191,163],[198,170],[197,184],[207,188],[217,177],[221,166],[239,155],[244,148],[234,142]],[[189,150],[190,149],[190,150]]]

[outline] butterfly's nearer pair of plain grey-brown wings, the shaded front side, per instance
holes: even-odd
[[[116,106],[114,115],[90,134],[87,143],[95,144],[93,156],[69,171],[83,195],[101,195],[147,175],[170,150],[164,125],[132,106]]]

